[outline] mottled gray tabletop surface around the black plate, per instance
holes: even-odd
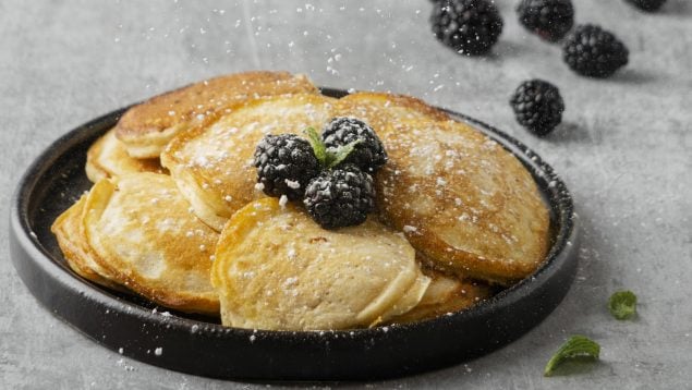
[[[494,53],[466,59],[430,37],[427,0],[0,1],[0,242],[7,246],[7,205],[29,161],[68,130],[138,99],[253,69],[412,94],[494,124],[550,162],[582,218],[581,263],[564,302],[521,340],[369,386],[692,388],[692,5],[670,0],[646,15],[623,1],[575,1],[579,21],[608,26],[631,50],[627,69],[594,81],[519,28],[513,2],[498,1],[506,28]],[[507,105],[519,82],[535,76],[556,83],[567,103],[564,124],[546,139],[521,130]],[[621,288],[640,297],[636,320],[617,321],[605,307]],[[159,369],[96,345],[39,307],[7,249],[0,307],[0,388],[264,388]],[[597,340],[602,362],[543,378],[573,333]]]

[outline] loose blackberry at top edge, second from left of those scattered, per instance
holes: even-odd
[[[549,41],[561,39],[574,24],[571,0],[521,0],[517,13],[526,29]]]

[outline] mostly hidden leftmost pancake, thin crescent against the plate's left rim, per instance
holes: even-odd
[[[83,223],[85,204],[86,195],[83,195],[56,219],[50,231],[56,234],[64,259],[73,271],[86,280],[120,290],[113,281],[114,276],[100,267],[89,254]]]

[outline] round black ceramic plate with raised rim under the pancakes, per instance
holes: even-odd
[[[323,89],[340,97],[342,90]],[[258,380],[357,380],[410,375],[487,354],[524,334],[562,300],[576,269],[576,226],[564,184],[538,156],[466,115],[532,172],[550,207],[547,261],[533,276],[475,307],[410,325],[345,331],[264,331],[167,313],[134,295],[93,284],[66,266],[50,226],[90,183],[87,147],[124,110],[86,123],[52,144],[21,180],[10,216],[17,273],[56,316],[99,344],[156,366],[194,375]]]

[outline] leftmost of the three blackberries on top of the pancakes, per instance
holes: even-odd
[[[309,143],[294,134],[266,135],[255,149],[257,183],[265,194],[300,199],[307,183],[319,173]]]

